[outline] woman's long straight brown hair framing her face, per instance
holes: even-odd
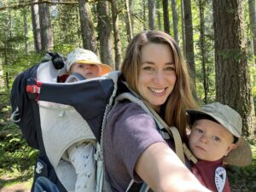
[[[186,109],[197,108],[197,104],[192,96],[191,89],[192,87],[194,89],[194,86],[191,84],[192,80],[190,80],[187,64],[176,41],[167,33],[160,31],[137,34],[128,44],[120,71],[130,88],[139,94],[137,82],[141,66],[141,50],[144,45],[149,43],[166,44],[174,55],[177,80],[172,94],[166,101],[165,121],[170,126],[176,126],[183,139],[186,140]]]

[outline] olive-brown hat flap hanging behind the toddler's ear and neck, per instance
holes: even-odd
[[[224,157],[224,163],[236,166],[247,166],[252,163],[252,150],[247,140],[240,137],[237,145],[237,148],[231,150],[229,155]]]

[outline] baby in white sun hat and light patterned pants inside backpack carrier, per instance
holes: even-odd
[[[73,50],[67,56],[66,69],[69,74],[66,83],[97,78],[112,70],[108,65],[102,64],[96,54],[87,49]],[[95,140],[73,143],[67,148],[66,155],[62,156],[74,167],[77,176],[76,192],[96,191],[95,143]]]

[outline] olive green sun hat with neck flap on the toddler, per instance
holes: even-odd
[[[239,138],[236,142],[237,148],[231,150],[229,155],[224,157],[224,163],[236,166],[247,166],[252,162],[252,150],[246,139],[241,137],[241,116],[233,108],[219,102],[213,102],[203,106],[199,110],[189,109],[187,113],[189,113],[191,122],[193,122],[194,119],[200,119],[201,115],[208,115],[219,124],[224,125],[233,136]]]

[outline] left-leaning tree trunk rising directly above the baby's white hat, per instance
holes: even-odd
[[[90,49],[98,55],[95,29],[87,0],[79,0],[79,15],[83,47],[84,49]]]

